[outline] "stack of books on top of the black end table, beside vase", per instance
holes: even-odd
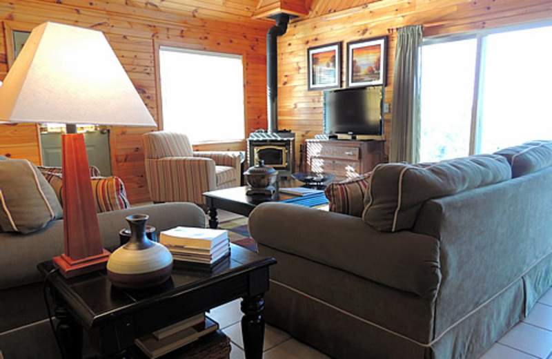
[[[162,231],[159,242],[174,260],[213,265],[230,253],[228,231],[195,227],[175,227]]]

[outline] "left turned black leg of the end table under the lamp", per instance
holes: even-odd
[[[55,316],[59,319],[56,327],[57,337],[64,351],[63,358],[82,358],[82,327],[70,315],[66,307],[56,308]]]

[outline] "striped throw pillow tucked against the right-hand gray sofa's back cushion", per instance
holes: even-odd
[[[342,182],[328,184],[324,194],[330,202],[330,211],[361,217],[364,210],[364,195],[371,174],[368,172]]]

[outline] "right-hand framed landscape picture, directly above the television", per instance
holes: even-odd
[[[385,86],[387,37],[347,43],[347,87]]]

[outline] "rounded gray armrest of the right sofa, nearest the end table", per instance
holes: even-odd
[[[252,237],[268,246],[395,289],[435,298],[439,242],[400,231],[384,233],[359,217],[284,203],[260,204],[248,220]]]

